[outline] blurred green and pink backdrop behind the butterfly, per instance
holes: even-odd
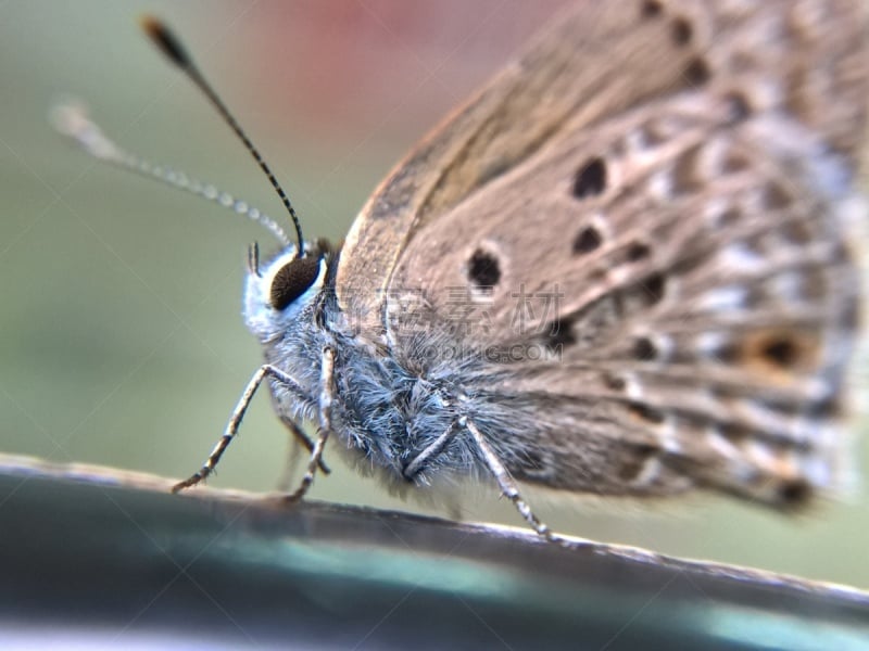
[[[64,94],[127,149],[282,219],[265,179],[139,34],[169,21],[282,180],[308,238],[339,240],[377,182],[563,2],[0,2],[0,451],[174,477],[199,468],[260,350],[240,318],[268,233],[95,164],[48,126]],[[862,429],[859,424],[855,429]],[[288,437],[259,396],[212,485],[269,490]],[[858,437],[859,465],[869,468]],[[328,454],[312,497],[426,511]],[[531,495],[556,531],[869,588],[865,492],[786,519],[711,497]],[[494,489],[469,520],[520,524]]]

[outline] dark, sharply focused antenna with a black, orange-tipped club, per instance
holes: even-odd
[[[241,139],[241,142],[244,143],[244,148],[260,165],[260,168],[265,173],[265,176],[268,177],[268,182],[272,183],[272,187],[278,193],[278,196],[280,196],[280,201],[284,202],[284,207],[287,208],[287,212],[290,214],[292,225],[295,228],[295,238],[299,241],[299,248],[297,250],[295,257],[297,259],[301,258],[304,254],[304,240],[302,239],[302,226],[299,222],[299,216],[295,214],[295,209],[292,207],[287,193],[284,192],[284,188],[280,187],[280,183],[278,183],[277,179],[275,178],[275,175],[272,174],[272,169],[263,159],[260,151],[250,141],[247,133],[244,133],[244,130],[241,128],[238,122],[236,122],[236,118],[232,116],[232,114],[229,113],[229,110],[226,107],[223,100],[221,100],[219,95],[202,76],[202,73],[196,66],[192,59],[190,59],[190,55],[181,44],[181,41],[179,41],[178,38],[172,31],[169,31],[168,27],[152,16],[144,16],[141,20],[141,26],[146,34],[151,37],[151,40],[154,41],[156,47],[162,50],[168,60],[178,66],[181,72],[193,82],[193,85],[196,85],[197,88],[199,88],[205,94],[211,104],[217,110],[217,113],[219,113],[224,118],[224,122],[229,125],[229,128],[231,128],[232,131],[236,132],[236,136]]]

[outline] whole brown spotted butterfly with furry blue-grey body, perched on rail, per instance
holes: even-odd
[[[342,244],[249,256],[244,320],[310,450],[396,488],[834,488],[858,330],[856,0],[578,2],[375,191]],[[146,28],[256,150],[162,24]],[[300,423],[313,421],[318,434]]]

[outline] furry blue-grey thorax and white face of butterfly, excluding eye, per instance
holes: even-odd
[[[263,345],[266,363],[287,373],[301,388],[291,391],[270,380],[275,407],[289,420],[315,420],[323,350],[336,350],[333,383],[341,399],[332,416],[335,431],[357,458],[404,480],[407,465],[458,421],[466,396],[448,380],[445,368],[408,368],[382,343],[355,336],[352,316],[339,308],[330,289],[335,254],[311,245],[308,250],[318,256],[316,278],[287,306],[274,305],[273,288],[294,261],[293,250],[281,252],[259,275],[252,271],[248,277],[245,322]],[[430,468],[406,478],[426,482],[443,468],[467,474],[478,461],[469,446],[454,445],[432,459]]]

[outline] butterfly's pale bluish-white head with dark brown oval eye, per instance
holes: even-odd
[[[261,341],[280,337],[313,305],[323,290],[327,258],[316,244],[307,244],[302,257],[292,245],[260,267],[259,247],[248,256],[244,322]]]

